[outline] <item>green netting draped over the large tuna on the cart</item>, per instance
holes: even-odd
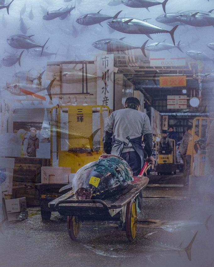
[[[125,161],[122,161],[116,157],[109,157],[105,159],[99,159],[97,163],[88,167],[87,169],[95,167],[94,171],[99,172],[102,175],[107,175],[110,172],[115,177],[118,177],[120,182],[133,181],[133,178],[130,176],[130,173],[127,169],[129,165],[127,165],[128,163]]]

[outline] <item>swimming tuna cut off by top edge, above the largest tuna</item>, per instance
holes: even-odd
[[[156,0],[121,0],[121,3],[130,8],[146,8],[149,11],[149,7],[162,5],[164,13],[166,13],[166,3],[169,0],[165,0],[162,3]]]

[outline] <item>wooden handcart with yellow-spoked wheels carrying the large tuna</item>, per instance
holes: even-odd
[[[72,240],[77,239],[83,221],[118,221],[126,231],[127,239],[133,241],[137,227],[136,198],[149,181],[143,176],[133,178],[134,181],[119,196],[105,200],[77,200],[73,191],[69,191],[49,202],[49,208],[67,216],[68,234]]]

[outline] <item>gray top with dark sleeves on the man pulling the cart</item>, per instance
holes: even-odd
[[[149,117],[145,113],[131,108],[115,110],[109,116],[104,130],[104,151],[118,156],[122,152],[135,151],[128,139],[133,140],[142,138],[142,136],[144,136],[144,149],[148,156],[151,156],[152,130]]]

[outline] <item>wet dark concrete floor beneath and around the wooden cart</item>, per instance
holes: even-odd
[[[214,202],[188,198],[188,187],[181,186],[181,181],[181,176],[177,175],[162,183],[153,175],[151,186],[144,190],[144,209],[138,215],[134,242],[128,242],[126,233],[114,223],[87,222],[81,226],[74,242],[68,237],[66,218],[52,213],[51,220],[43,222],[39,207],[28,208],[28,219],[2,226],[0,266],[211,266],[209,264],[214,260]],[[212,213],[207,230],[205,221]],[[187,222],[183,222],[182,229],[168,232],[143,222],[148,219]],[[190,261],[184,249],[197,231]]]

